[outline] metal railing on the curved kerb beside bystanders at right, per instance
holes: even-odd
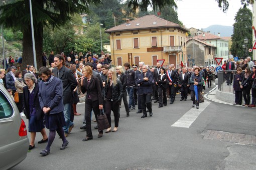
[[[220,70],[218,71],[218,90],[227,93],[234,93],[233,81],[236,70]]]

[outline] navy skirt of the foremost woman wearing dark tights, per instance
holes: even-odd
[[[66,126],[64,113],[60,112],[57,114],[46,114],[45,115],[45,126],[49,130],[56,130]]]

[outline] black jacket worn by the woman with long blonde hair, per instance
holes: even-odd
[[[110,86],[110,82],[108,81],[105,86],[104,90],[104,99],[106,98],[107,95],[107,89]],[[122,99],[122,83],[119,79],[116,79],[116,85],[112,83],[112,100],[117,100],[121,101]]]

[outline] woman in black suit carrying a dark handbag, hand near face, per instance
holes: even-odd
[[[86,122],[86,137],[83,141],[91,140],[91,111],[93,109],[96,121],[99,110],[103,108],[101,86],[102,82],[97,77],[92,75],[92,69],[90,66],[85,66],[82,69],[83,76],[81,78],[81,91],[85,97],[85,122]],[[99,131],[98,138],[102,137],[103,131]]]

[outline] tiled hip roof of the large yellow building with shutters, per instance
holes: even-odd
[[[147,16],[135,19],[133,21],[130,21],[129,24],[124,23],[119,26],[112,27],[108,30],[105,30],[105,33],[118,32],[118,31],[142,30],[142,29],[153,29],[153,28],[180,28],[186,32],[189,31],[186,28],[183,28],[178,24],[164,20],[155,15],[147,15]]]

